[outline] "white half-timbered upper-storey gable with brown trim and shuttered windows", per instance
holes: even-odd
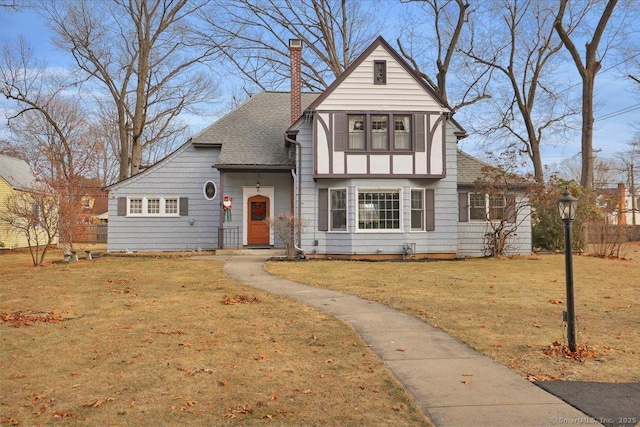
[[[450,109],[379,38],[309,108],[316,178],[443,178]]]

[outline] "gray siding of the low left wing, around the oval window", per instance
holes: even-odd
[[[221,196],[207,200],[203,186],[209,180],[220,186],[219,172],[212,168],[218,154],[217,148],[186,143],[153,168],[112,186],[108,252],[217,248]],[[117,215],[118,199],[127,197],[187,198],[188,212],[179,217]]]

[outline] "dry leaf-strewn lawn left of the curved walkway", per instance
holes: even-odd
[[[430,425],[350,328],[222,262],[29,263],[0,255],[1,425]]]

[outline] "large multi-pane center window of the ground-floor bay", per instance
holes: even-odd
[[[358,192],[358,230],[400,230],[400,191]]]

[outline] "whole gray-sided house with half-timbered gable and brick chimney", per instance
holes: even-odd
[[[301,49],[290,42],[290,93],[254,95],[109,187],[108,251],[280,247],[265,220],[288,212],[310,257],[484,254],[487,221],[459,213],[483,165],[457,150],[465,130],[433,88],[380,37],[302,93]],[[513,252],[529,253],[521,227]]]

